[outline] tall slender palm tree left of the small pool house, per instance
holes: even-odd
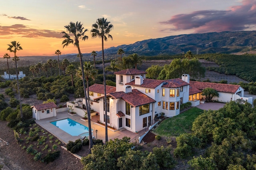
[[[17,68],[17,61],[19,61],[19,57],[16,56],[16,52],[19,50],[22,50],[22,47],[20,46],[20,43],[16,43],[16,41],[12,41],[11,44],[8,44],[8,49],[10,52],[14,53],[13,61],[15,61],[15,69],[16,69],[16,78],[17,78],[17,88],[18,88],[18,96],[20,101],[20,86],[19,86],[19,78],[18,78],[18,68]],[[22,104],[20,101],[20,117],[23,118],[22,113]]]

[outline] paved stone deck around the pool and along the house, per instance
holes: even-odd
[[[63,119],[63,118],[70,118],[70,119],[88,127],[88,121],[82,121],[80,119],[82,117],[79,115],[69,115],[67,111],[57,113],[56,117],[49,117],[46,119],[36,120],[36,123],[38,125],[40,125],[42,128],[46,129],[48,132],[52,133],[52,135],[56,136],[58,139],[60,139],[60,141],[62,141],[65,144],[67,144],[68,141],[75,141],[76,139],[79,139],[80,136],[72,136],[72,135],[66,133],[65,131],[61,130],[60,128],[54,126],[52,123],[50,123],[51,121],[56,121],[58,119]],[[92,133],[95,136],[95,138],[96,138],[95,131],[98,130],[97,139],[102,139],[103,142],[105,142],[105,128],[95,124],[94,121],[91,121],[91,127],[93,130]],[[128,130],[116,131],[116,132],[108,130],[108,140],[110,140],[110,139],[114,140],[115,138],[122,139],[123,137],[126,136],[126,137],[131,138],[131,142],[134,142],[134,141],[138,140],[139,135],[142,135],[142,133],[143,132],[133,133]]]

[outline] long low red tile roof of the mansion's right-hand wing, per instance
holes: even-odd
[[[213,88],[218,92],[225,92],[225,93],[235,93],[239,88],[242,89],[239,85],[234,84],[221,84],[221,83],[209,83],[209,82],[195,82],[190,81],[190,86],[203,90],[205,88]]]

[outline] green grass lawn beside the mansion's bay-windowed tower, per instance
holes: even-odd
[[[190,133],[193,121],[203,112],[202,109],[193,107],[177,116],[165,119],[153,132],[162,137],[177,137],[182,133]]]

